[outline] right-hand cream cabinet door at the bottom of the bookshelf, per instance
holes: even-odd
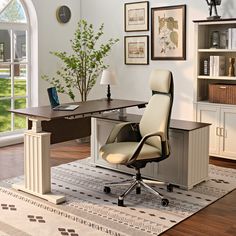
[[[222,146],[221,155],[235,157],[236,156],[236,109],[221,110],[221,127],[222,130]]]

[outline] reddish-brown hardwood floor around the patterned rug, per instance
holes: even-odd
[[[51,147],[51,166],[90,156],[89,144],[76,141]],[[210,163],[236,169],[236,161],[210,158]],[[0,180],[23,174],[23,145],[0,148]],[[179,223],[165,236],[234,236],[236,235],[236,190]]]

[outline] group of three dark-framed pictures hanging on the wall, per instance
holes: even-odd
[[[186,60],[186,5],[150,9],[148,1],[125,3],[124,31],[126,65],[148,65],[149,54],[151,60]]]

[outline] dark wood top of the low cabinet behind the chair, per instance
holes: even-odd
[[[114,121],[132,121],[139,123],[141,120],[141,115],[135,114],[126,114],[126,117],[119,117],[117,113],[106,113],[103,115],[95,115],[96,118],[107,119],[107,120],[114,120]],[[171,119],[170,121],[170,129],[175,130],[184,130],[184,131],[192,131],[195,129],[200,129],[205,126],[209,126],[208,123],[201,123],[201,122],[193,122],[193,121],[186,121],[186,120],[175,120]]]

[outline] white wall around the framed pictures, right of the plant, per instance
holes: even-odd
[[[95,26],[105,24],[106,38],[119,38],[109,57],[109,64],[117,71],[119,85],[113,86],[114,98],[148,100],[151,93],[148,77],[154,68],[166,68],[173,72],[175,98],[172,118],[193,120],[194,93],[194,24],[193,20],[206,19],[208,6],[206,1],[196,0],[150,0],[150,8],[168,5],[187,5],[187,59],[186,61],[151,61],[150,65],[137,66],[124,64],[123,38],[126,35],[150,35],[146,32],[124,32],[124,3],[137,1],[124,0],[81,0],[81,17]],[[224,18],[236,17],[236,1],[222,1],[218,14]],[[151,15],[151,14],[150,14]],[[151,24],[150,24],[151,26]],[[151,55],[151,54],[150,54]],[[92,89],[89,98],[106,96],[106,88],[99,85]],[[134,110],[136,112],[136,110]]]

